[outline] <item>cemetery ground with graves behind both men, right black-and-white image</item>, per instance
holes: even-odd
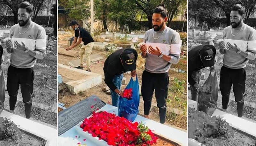
[[[218,45],[214,42],[216,40],[222,38],[222,31],[221,30],[212,30],[212,31],[200,31],[196,30],[196,36],[194,37],[194,40],[192,39],[192,31],[188,30],[189,33],[189,41],[188,41],[188,50],[193,49],[197,45],[200,45],[201,43],[210,43],[215,46],[216,50],[219,49]],[[190,35],[191,34],[191,35]],[[213,42],[213,43],[212,43]],[[223,55],[220,54],[219,50],[216,52],[215,56],[215,70],[217,74],[218,79],[218,100],[217,104],[219,109],[222,109],[222,95],[219,88],[219,80],[220,80],[220,69],[223,65],[222,63]],[[247,66],[246,66],[246,81],[245,81],[245,93],[244,93],[244,118],[248,119],[250,121],[253,121],[256,123],[256,73],[255,73],[255,66],[256,66],[256,60],[249,60]],[[200,85],[203,85],[206,79],[208,78],[208,75],[210,73],[209,68],[203,69],[204,80],[201,80]],[[191,99],[191,92],[188,90],[188,97]],[[236,110],[236,102],[235,102],[235,96],[233,92],[233,87],[231,87],[231,93],[230,93],[230,100],[228,104],[227,112],[237,116],[237,110]]]

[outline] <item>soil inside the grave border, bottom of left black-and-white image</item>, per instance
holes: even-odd
[[[12,139],[0,141],[0,146],[44,146],[46,143],[43,139],[22,131],[21,133],[21,138],[17,141],[14,142]]]

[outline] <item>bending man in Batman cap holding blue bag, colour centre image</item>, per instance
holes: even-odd
[[[134,49],[119,49],[110,54],[104,63],[105,83],[110,88],[112,105],[118,107],[119,97],[123,97],[120,90],[123,73],[131,71],[132,76],[136,76],[136,60],[138,54]]]

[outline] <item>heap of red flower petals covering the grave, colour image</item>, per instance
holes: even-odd
[[[99,139],[106,141],[113,146],[135,146],[135,144],[150,144],[156,143],[157,137],[149,130],[146,132],[151,136],[151,141],[137,143],[140,137],[138,122],[130,122],[124,117],[118,117],[113,113],[106,111],[92,112],[89,119],[84,119],[80,125],[83,131],[91,133],[93,137],[98,136]]]

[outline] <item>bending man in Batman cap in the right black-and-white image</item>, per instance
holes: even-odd
[[[191,90],[192,100],[197,101],[201,69],[210,67],[210,71],[214,72],[214,58],[216,49],[212,45],[199,45],[188,51],[188,83]]]

